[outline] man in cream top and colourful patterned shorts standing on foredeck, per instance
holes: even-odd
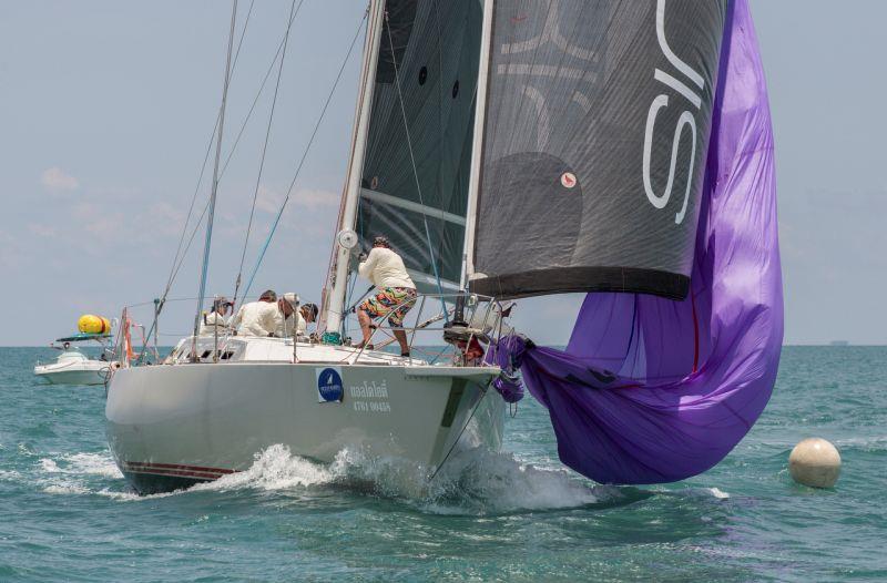
[[[391,250],[388,237],[380,235],[373,241],[373,249],[366,257],[361,257],[357,273],[369,279],[377,292],[356,309],[364,335],[364,340],[356,347],[371,349],[369,339],[373,336],[373,319],[387,317],[400,345],[400,354],[409,356],[407,333],[402,326],[404,318],[416,303],[416,285],[407,274],[404,259]]]

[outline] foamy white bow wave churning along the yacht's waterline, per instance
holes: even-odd
[[[593,484],[565,469],[543,468],[486,449],[455,453],[430,475],[415,462],[373,457],[360,449],[341,450],[332,463],[319,463],[275,444],[257,453],[242,472],[147,497],[129,489],[109,451],[45,457],[37,467],[38,483],[47,493],[94,494],[124,502],[196,492],[325,489],[392,500],[427,513],[501,514],[610,505],[632,498],[623,489]]]

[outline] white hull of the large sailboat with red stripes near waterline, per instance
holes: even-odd
[[[318,402],[319,375],[330,367],[341,378],[343,399]],[[360,448],[432,470],[460,436],[459,447],[500,447],[504,403],[488,388],[497,374],[329,361],[121,369],[108,393],[108,437],[141,492],[245,470],[276,443],[322,462]]]

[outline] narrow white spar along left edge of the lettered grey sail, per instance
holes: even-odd
[[[471,171],[468,177],[468,206],[465,217],[465,245],[462,246],[462,289],[468,289],[475,273],[475,224],[480,190],[480,168],[483,162],[483,122],[487,114],[487,79],[490,73],[490,44],[492,43],[492,3],[483,1],[483,28],[480,33],[480,69],[475,105],[475,135],[471,143]]]

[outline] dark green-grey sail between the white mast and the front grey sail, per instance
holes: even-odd
[[[386,11],[356,231],[365,247],[387,235],[420,289],[436,290],[438,278],[452,288],[462,269],[482,9],[478,0],[388,0]]]

